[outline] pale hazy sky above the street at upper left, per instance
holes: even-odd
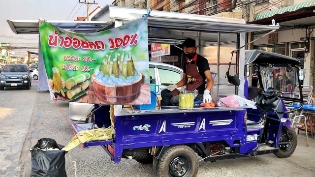
[[[68,18],[67,20],[74,20],[77,16],[86,17],[87,5],[78,3],[78,1],[79,0],[0,0],[0,42],[11,43],[12,46],[38,47],[38,35],[15,34],[10,29],[6,20],[38,20],[39,18],[46,20],[66,20]],[[93,2],[93,0],[89,1]],[[91,5],[90,12],[97,6],[104,7],[107,4],[111,4],[113,1],[114,0],[95,0],[98,5]],[[27,51],[38,52],[38,50],[26,49],[14,51],[16,52],[15,57],[18,58],[27,56]]]

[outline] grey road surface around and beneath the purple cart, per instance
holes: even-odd
[[[58,104],[68,117],[68,103]],[[0,177],[29,177],[29,149],[40,138],[53,138],[62,145],[73,138],[69,125],[55,102],[50,100],[49,93],[37,92],[35,82],[31,90],[0,91]],[[295,152],[285,159],[267,154],[214,163],[200,162],[197,177],[314,177],[315,140],[309,138],[310,147],[307,148],[305,133],[301,131],[298,141]],[[75,177],[75,174],[77,177],[155,177],[151,165],[128,159],[115,164],[100,147],[78,146],[70,150],[66,155],[66,172],[68,177]]]

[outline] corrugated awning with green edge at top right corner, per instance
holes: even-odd
[[[311,1],[303,2],[303,3],[299,3],[299,4],[283,7],[280,9],[271,10],[268,12],[261,12],[261,13],[255,15],[255,20],[261,20],[261,19],[269,18],[269,17],[272,17],[276,14],[283,14],[285,12],[293,12],[293,11],[296,11],[298,9],[301,9],[304,7],[310,7],[310,6],[314,6],[314,5],[315,5],[315,0],[311,0]]]

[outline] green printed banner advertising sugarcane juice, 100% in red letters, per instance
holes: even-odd
[[[149,104],[148,23],[79,34],[39,23],[52,98],[94,104]]]

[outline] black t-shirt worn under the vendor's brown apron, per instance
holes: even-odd
[[[187,74],[186,73],[186,64],[188,64],[187,63],[187,59],[186,59],[186,57],[184,57],[184,69],[183,70],[184,70],[185,74]],[[195,64],[195,61],[191,61],[190,64]],[[197,68],[198,68],[198,71],[199,71],[201,77],[205,81],[204,84],[202,84],[201,86],[199,86],[197,88],[198,93],[203,94],[203,92],[206,89],[206,75],[205,75],[205,71],[210,70],[209,62],[208,62],[208,60],[206,58],[204,58],[201,55],[197,54],[196,65],[197,65]]]

